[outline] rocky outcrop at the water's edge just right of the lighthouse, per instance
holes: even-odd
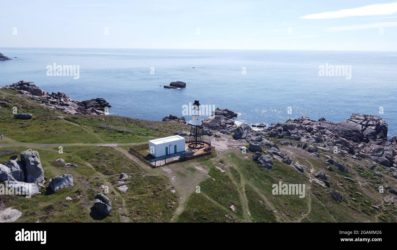
[[[233,120],[234,117],[237,117],[237,113],[230,111],[228,109],[219,109],[213,112],[213,116],[208,117],[202,121],[202,125],[208,129],[214,130],[226,130],[227,133],[231,133],[237,125],[235,125],[235,121]]]

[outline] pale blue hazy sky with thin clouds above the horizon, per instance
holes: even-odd
[[[0,47],[397,51],[397,2],[0,2]]]

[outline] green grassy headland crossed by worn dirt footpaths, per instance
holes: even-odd
[[[396,179],[380,165],[371,170],[373,164],[366,160],[323,150],[317,158],[299,148],[281,146],[280,140],[274,139],[281,152],[308,169],[301,173],[277,159],[273,169],[262,169],[252,161],[252,153],[242,153],[235,147],[150,169],[129,155],[129,146],[189,130],[187,125],[68,115],[10,90],[0,90],[2,101],[7,103],[0,109],[4,134],[0,163],[33,148],[40,153],[47,182],[64,173],[72,174],[74,182],[72,188],[54,194],[42,189],[32,198],[0,195],[0,208],[13,207],[22,212],[17,222],[396,222],[395,198],[388,189],[384,193],[377,190],[379,186],[396,188]],[[19,113],[33,114],[33,118],[14,119],[13,107]],[[326,155],[343,163],[350,173],[335,168],[328,171]],[[77,166],[66,167],[55,161],[58,158]],[[313,179],[319,170],[326,172],[331,187]],[[118,180],[121,172],[130,176],[123,183]],[[273,195],[272,184],[279,181],[305,184],[305,197]],[[104,191],[103,185],[109,188],[106,195],[113,208],[106,218],[92,210],[94,195]],[[118,189],[122,185],[128,187],[127,191]],[[330,189],[341,193],[340,203],[331,197]],[[372,205],[382,205],[382,209]]]

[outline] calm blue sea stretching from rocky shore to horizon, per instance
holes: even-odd
[[[308,116],[342,121],[377,114],[397,134],[397,52],[0,48],[0,85],[35,81],[76,100],[105,98],[113,115],[161,120],[182,106],[229,108],[237,120],[275,123]],[[47,76],[46,66],[79,65],[80,78]],[[318,66],[351,65],[352,78],[318,76]],[[155,74],[150,74],[154,67]],[[195,68],[191,68],[195,67]],[[241,74],[246,67],[247,74]],[[171,81],[186,89],[164,89]],[[161,87],[160,87],[161,85]],[[292,114],[287,108],[292,107]],[[384,114],[379,114],[379,108]],[[189,120],[189,117],[187,117]]]

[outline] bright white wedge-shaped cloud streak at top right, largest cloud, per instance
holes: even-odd
[[[362,17],[371,15],[393,15],[397,13],[397,2],[389,4],[371,4],[353,9],[341,9],[316,14],[305,15],[302,19],[333,19],[343,17]]]

